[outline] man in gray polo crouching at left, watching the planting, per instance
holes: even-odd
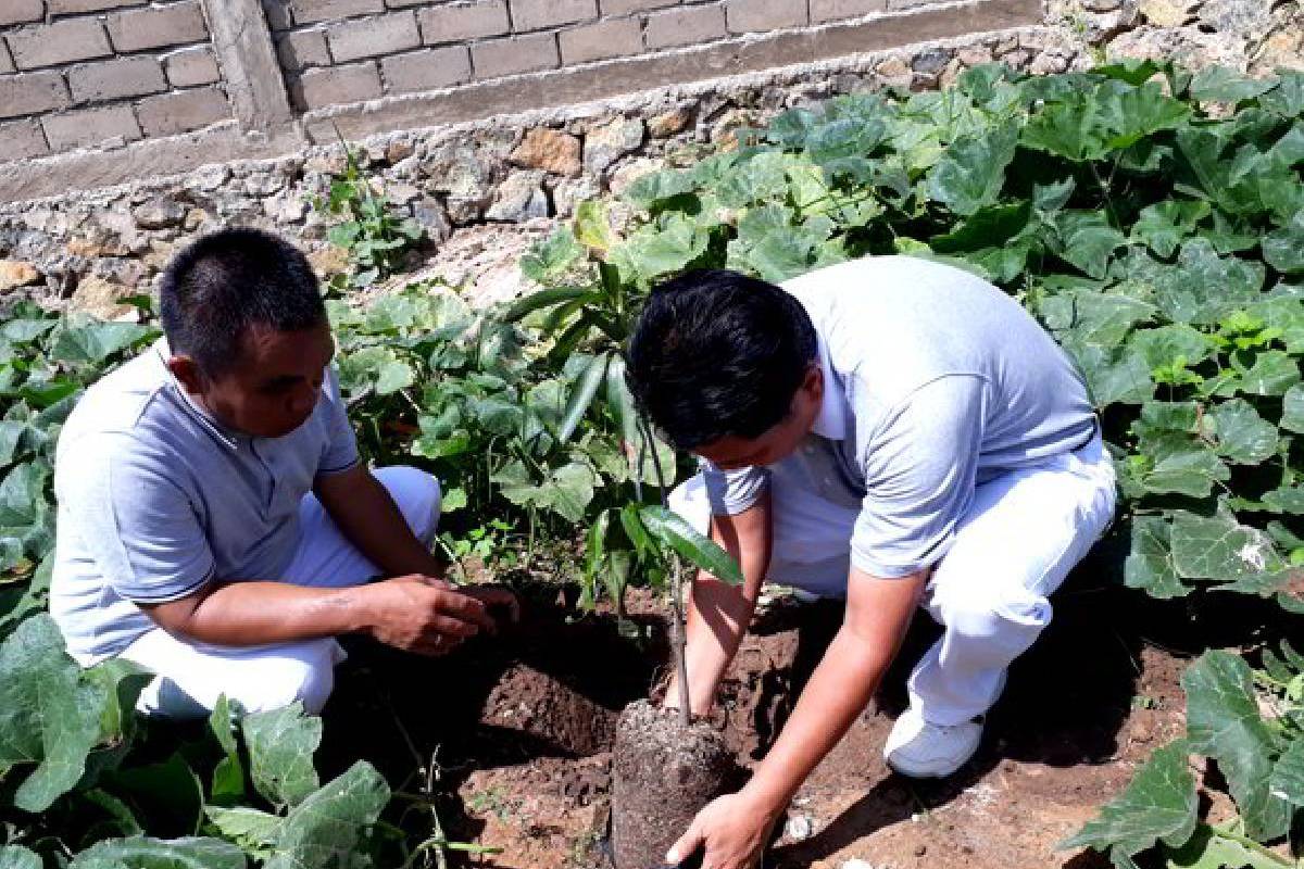
[[[146,711],[226,694],[316,713],[338,634],[442,654],[494,629],[488,607],[515,614],[502,589],[442,581],[433,477],[359,460],[299,250],[205,236],[168,266],[160,313],[166,337],[91,386],[59,439],[50,608],[74,658],[158,674]]]

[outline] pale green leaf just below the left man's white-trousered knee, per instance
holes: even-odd
[[[299,805],[317,790],[313,752],[322,741],[322,722],[305,715],[303,704],[252,713],[240,726],[249,749],[249,775],[269,803]]]

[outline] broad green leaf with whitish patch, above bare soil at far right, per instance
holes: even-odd
[[[1178,575],[1191,580],[1235,581],[1282,569],[1273,541],[1231,516],[1172,516],[1172,555]]]

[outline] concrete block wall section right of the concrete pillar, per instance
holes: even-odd
[[[301,112],[947,0],[262,0]]]

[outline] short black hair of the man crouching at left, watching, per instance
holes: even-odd
[[[222,374],[250,327],[312,328],[326,322],[326,306],[317,275],[295,245],[261,229],[231,228],[198,238],[168,263],[159,318],[173,353]]]

